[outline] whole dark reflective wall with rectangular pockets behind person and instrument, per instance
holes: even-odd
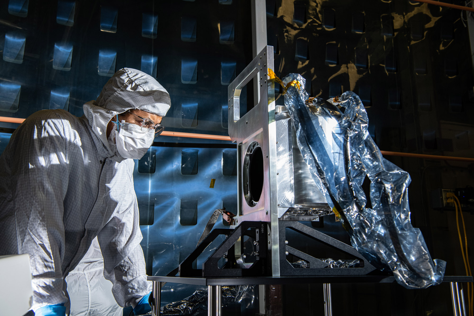
[[[114,71],[132,67],[155,76],[170,92],[167,130],[227,135],[227,84],[252,59],[250,5],[1,1],[0,116],[26,118],[49,108],[81,116],[82,104],[98,96]],[[472,59],[461,11],[409,0],[267,0],[266,11],[275,73],[302,74],[310,96],[358,93],[380,149],[474,157]],[[283,104],[281,94],[277,103]],[[17,126],[0,124],[6,132],[0,147]],[[192,250],[215,208],[235,207],[237,183],[232,144],[155,141],[136,161],[134,177],[147,269],[156,275],[172,270]],[[454,212],[433,209],[430,192],[473,185],[474,166],[386,158],[410,172],[412,223],[432,257],[448,262],[448,275],[464,275]],[[211,178],[217,179],[214,189],[208,186]],[[470,211],[465,221],[472,241]],[[332,216],[320,229],[346,239]],[[169,284],[164,301],[194,289]],[[287,286],[284,315],[322,314],[322,300],[320,285]],[[452,313],[447,284],[422,291],[397,284],[334,285],[333,301],[335,315]]]

